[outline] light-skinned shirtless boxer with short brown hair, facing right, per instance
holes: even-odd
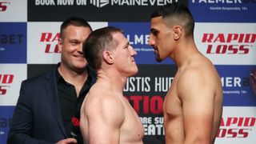
[[[83,52],[97,81],[82,103],[80,128],[85,143],[140,144],[142,122],[122,92],[127,78],[138,73],[136,51],[122,30],[104,27],[86,39]]]

